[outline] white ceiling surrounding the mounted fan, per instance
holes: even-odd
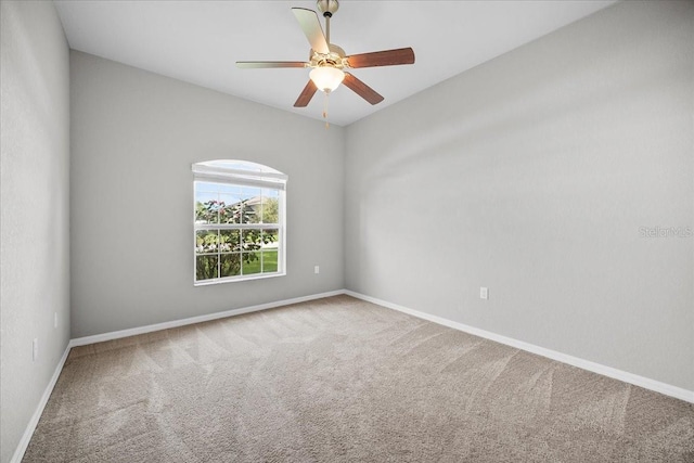
[[[331,41],[347,54],[412,47],[414,65],[354,69],[385,97],[372,106],[340,86],[329,118],[346,126],[615,0],[340,0]],[[293,107],[309,69],[239,69],[236,61],[307,61],[292,7],[314,1],[55,1],[70,48],[320,119],[323,95]],[[321,20],[322,21],[322,20]]]

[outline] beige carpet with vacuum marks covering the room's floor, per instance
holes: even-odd
[[[694,462],[694,407],[347,296],[74,348],[25,462]]]

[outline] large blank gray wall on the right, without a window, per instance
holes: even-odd
[[[346,287],[694,389],[694,3],[624,2],[346,130]],[[489,300],[479,287],[489,287]]]

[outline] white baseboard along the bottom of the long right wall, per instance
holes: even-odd
[[[378,306],[386,307],[388,309],[398,310],[403,313],[408,313],[420,319],[424,319],[434,323],[441,324],[444,326],[452,327],[465,333],[473,334],[475,336],[484,337],[486,339],[494,340],[497,343],[505,344],[506,346],[515,347],[517,349],[526,350],[528,352],[537,353],[538,356],[547,357],[552,360],[556,360],[562,363],[578,366],[579,369],[588,370],[593,373],[602,374],[614,380],[624,381],[625,383],[633,384],[634,386],[643,387],[656,393],[660,393],[665,396],[674,397],[676,399],[684,400],[686,402],[694,403],[694,390],[683,389],[681,387],[672,386],[667,383],[651,380],[648,377],[639,376],[633,373],[629,373],[622,370],[617,370],[612,366],[606,366],[600,363],[591,362],[589,360],[579,359],[578,357],[568,356],[566,353],[557,352],[555,350],[545,349],[544,347],[536,346],[534,344],[525,343],[523,340],[513,339],[511,337],[502,336],[500,334],[491,333],[485,330],[480,330],[474,326],[468,326],[463,323],[458,323],[441,317],[432,316],[429,313],[420,312],[397,304],[388,303],[375,297],[367,296],[364,294],[356,293],[354,291],[346,290],[344,294],[356,297],[358,299],[367,300],[369,303],[376,304]]]

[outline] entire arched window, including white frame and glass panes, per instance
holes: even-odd
[[[194,283],[285,274],[287,177],[245,160],[193,164]]]

